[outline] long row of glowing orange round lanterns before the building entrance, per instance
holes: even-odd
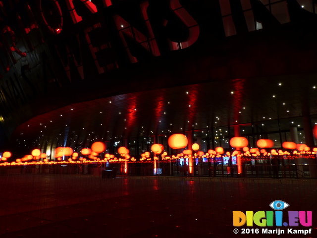
[[[317,126],[314,127],[314,135],[317,137]],[[270,152],[266,152],[264,148],[271,148],[274,146],[274,142],[269,139],[260,139],[257,141],[257,146],[259,148],[262,148],[261,151],[259,151],[258,148],[251,148],[249,149],[247,145],[249,144],[249,141],[245,137],[233,137],[230,139],[230,145],[232,147],[235,147],[237,150],[235,150],[231,156],[259,156],[260,152],[264,156],[269,156],[269,155],[289,155],[290,153],[288,151],[282,151],[278,150],[271,150]],[[185,135],[183,134],[173,134],[168,138],[168,145],[172,149],[184,149],[188,145],[188,139]],[[284,142],[282,144],[282,147],[285,149],[289,150],[296,150],[293,151],[293,154],[316,154],[317,148],[313,149],[313,152],[311,152],[311,148],[308,147],[305,144],[296,144],[294,142]],[[170,160],[170,159],[178,159],[180,157],[184,158],[190,158],[190,157],[207,157],[207,158],[214,158],[214,157],[220,157],[222,154],[224,154],[224,150],[222,147],[216,147],[215,150],[209,150],[208,153],[204,153],[203,151],[198,151],[199,150],[199,145],[197,143],[194,143],[192,145],[192,150],[187,149],[183,150],[182,153],[178,153],[177,156],[172,155],[171,157],[167,156],[166,152],[163,152],[164,146],[162,144],[153,144],[151,146],[151,151],[155,154],[154,155],[154,161],[159,160],[158,155],[161,154],[161,159],[162,160]],[[241,151],[242,149],[242,151]],[[81,150],[81,154],[84,156],[88,156],[89,159],[92,159],[93,161],[100,161],[100,162],[136,162],[136,159],[134,157],[130,157],[129,155],[129,150],[125,148],[124,146],[118,148],[118,154],[122,158],[117,158],[114,155],[110,155],[108,153],[105,154],[105,159],[99,158],[99,154],[103,153],[106,151],[106,144],[104,142],[94,142],[92,144],[91,149],[90,148],[84,148]],[[193,154],[193,151],[196,151]],[[230,156],[230,152],[225,153],[226,156]],[[69,156],[71,158],[68,159],[69,162],[74,161],[78,158],[79,154],[77,152],[73,152],[73,149],[70,147],[57,147],[55,149],[55,158],[57,161],[62,161],[62,158],[64,156]],[[7,158],[11,157],[11,153],[6,151],[3,153],[1,160],[6,161]],[[152,161],[151,153],[150,152],[145,152],[141,154],[140,161],[141,162],[148,162]],[[47,159],[47,155],[45,153],[41,153],[39,149],[34,149],[31,153],[31,155],[25,155],[21,159],[16,159],[16,163],[24,163],[29,160],[39,160],[43,159],[43,162],[48,163],[49,160]],[[80,157],[79,158],[80,162],[87,163],[88,160],[86,158]],[[42,162],[42,163],[43,163]]]

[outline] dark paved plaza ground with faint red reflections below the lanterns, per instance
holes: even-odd
[[[14,175],[0,184],[1,238],[264,237],[235,235],[232,211],[271,211],[277,199],[284,211],[313,211],[313,234],[265,237],[317,238],[316,179]]]

